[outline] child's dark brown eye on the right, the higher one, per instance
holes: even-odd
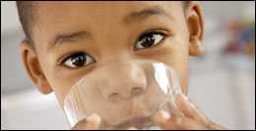
[[[164,35],[161,32],[149,32],[142,35],[138,42],[135,45],[135,50],[140,50],[144,48],[149,48],[160,43],[164,38]]]

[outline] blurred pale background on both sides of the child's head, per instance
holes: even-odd
[[[201,2],[206,54],[190,58],[189,98],[228,129],[255,129],[255,1]],[[15,2],[1,1],[1,129],[69,129],[54,94],[21,63]]]

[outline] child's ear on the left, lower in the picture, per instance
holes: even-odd
[[[52,92],[47,79],[45,78],[36,57],[35,51],[29,41],[24,40],[20,46],[22,52],[22,60],[24,66],[30,75],[32,82],[37,86],[42,94],[49,94]]]

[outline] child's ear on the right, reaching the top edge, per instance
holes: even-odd
[[[205,52],[203,48],[204,19],[200,5],[190,1],[185,14],[189,30],[189,55],[202,55]]]

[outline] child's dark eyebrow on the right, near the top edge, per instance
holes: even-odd
[[[142,22],[153,16],[163,16],[173,20],[173,17],[167,14],[167,12],[163,10],[160,6],[154,6],[139,12],[134,12],[129,14],[123,19],[123,22],[126,24],[127,23],[131,24],[134,22]]]

